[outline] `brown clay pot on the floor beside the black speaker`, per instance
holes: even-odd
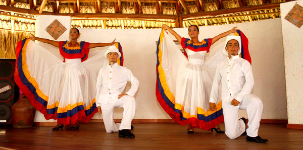
[[[24,94],[12,106],[13,127],[26,128],[34,124],[36,109],[33,107]]]

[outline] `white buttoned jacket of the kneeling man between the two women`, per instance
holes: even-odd
[[[131,82],[131,88],[126,94],[133,97],[138,90],[139,81],[128,68],[118,65],[118,63],[112,66],[108,64],[101,68],[96,85],[96,106],[107,104],[109,97],[117,100],[128,81]]]

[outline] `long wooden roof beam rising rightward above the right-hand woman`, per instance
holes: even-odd
[[[270,10],[270,9],[280,8],[280,4],[281,3],[271,3],[271,4],[245,6],[245,7],[240,7],[240,8],[224,9],[224,10],[217,10],[217,11],[210,11],[210,12],[197,12],[197,13],[191,13],[191,14],[184,14],[184,15],[181,15],[181,17],[183,18],[183,20],[185,20],[185,19],[191,19],[191,18],[212,17],[212,16],[228,15],[228,14],[235,14],[235,13],[241,13],[241,12]]]

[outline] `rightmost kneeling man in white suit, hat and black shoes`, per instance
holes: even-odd
[[[225,134],[234,139],[246,135],[247,141],[267,142],[258,135],[263,104],[259,97],[250,94],[254,86],[250,63],[239,57],[241,51],[240,36],[228,36],[223,53],[228,60],[220,63],[216,70],[211,91],[210,109],[216,110],[216,101],[219,93],[219,84],[222,82],[222,108],[224,115]],[[248,128],[246,119],[238,120],[239,109],[248,114]]]

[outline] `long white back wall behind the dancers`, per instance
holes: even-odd
[[[36,26],[38,26],[36,24]],[[264,104],[262,119],[286,119],[285,74],[282,49],[281,19],[270,19],[250,23],[200,27],[199,39],[212,38],[237,26],[249,40],[255,87]],[[123,47],[124,66],[132,70],[140,81],[135,95],[137,109],[135,119],[170,119],[159,105],[156,95],[156,41],[161,29],[79,29],[80,40],[87,42],[111,42],[116,38]],[[187,28],[175,29],[188,38]],[[215,43],[210,55],[219,50],[225,38]],[[102,48],[101,48],[102,49]],[[93,50],[92,50],[93,52]],[[127,87],[129,88],[129,86]],[[122,118],[122,108],[117,108],[114,118]],[[279,112],[279,113],[277,113]],[[246,116],[245,111],[240,116]],[[99,118],[97,115],[93,119]],[[36,122],[44,122],[37,113]]]

